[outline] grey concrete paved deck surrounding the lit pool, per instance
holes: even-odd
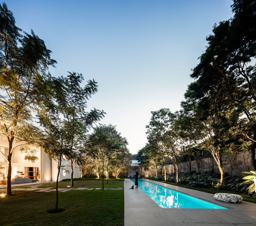
[[[250,202],[227,203],[213,198],[213,194],[182,188],[171,184],[144,179],[163,187],[204,199],[228,209],[161,208],[140,188],[129,189],[134,184],[124,180],[124,225],[173,226],[252,226],[256,225],[256,204]]]

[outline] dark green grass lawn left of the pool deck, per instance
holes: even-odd
[[[59,182],[59,188],[68,188],[68,185],[70,182]],[[74,188],[101,186],[102,181],[74,181]],[[54,188],[55,183],[40,187]],[[105,187],[124,187],[124,182],[110,180],[107,184],[104,181]],[[55,208],[56,191],[12,193],[11,197],[0,197],[0,225],[124,225],[124,189],[59,192],[58,208],[65,211],[55,214],[47,211]]]

